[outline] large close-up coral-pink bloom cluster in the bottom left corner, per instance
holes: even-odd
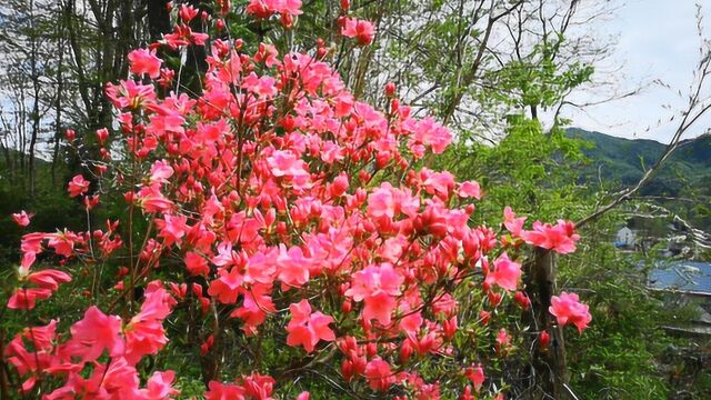
[[[147,354],[156,354],[167,342],[162,321],[176,303],[158,281],[146,292],[141,311],[128,324],[118,316],[107,316],[92,306],[83,319],[70,328],[70,338],[60,342],[57,320],[19,333],[4,356],[18,373],[26,377],[22,392],[31,392],[46,376],[64,384],[44,399],[166,399],[178,391],[171,387],[174,373],[154,372],[146,388],[139,387],[136,364]],[[28,350],[27,343],[32,350]],[[103,354],[109,361],[100,362]]]

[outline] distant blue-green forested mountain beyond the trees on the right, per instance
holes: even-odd
[[[583,150],[590,163],[581,173],[581,180],[591,184],[599,179],[619,188],[634,184],[667,148],[667,144],[653,140],[623,139],[578,128],[570,128],[567,133],[592,144]],[[682,141],[640,194],[659,198],[664,207],[709,230],[711,134]]]

